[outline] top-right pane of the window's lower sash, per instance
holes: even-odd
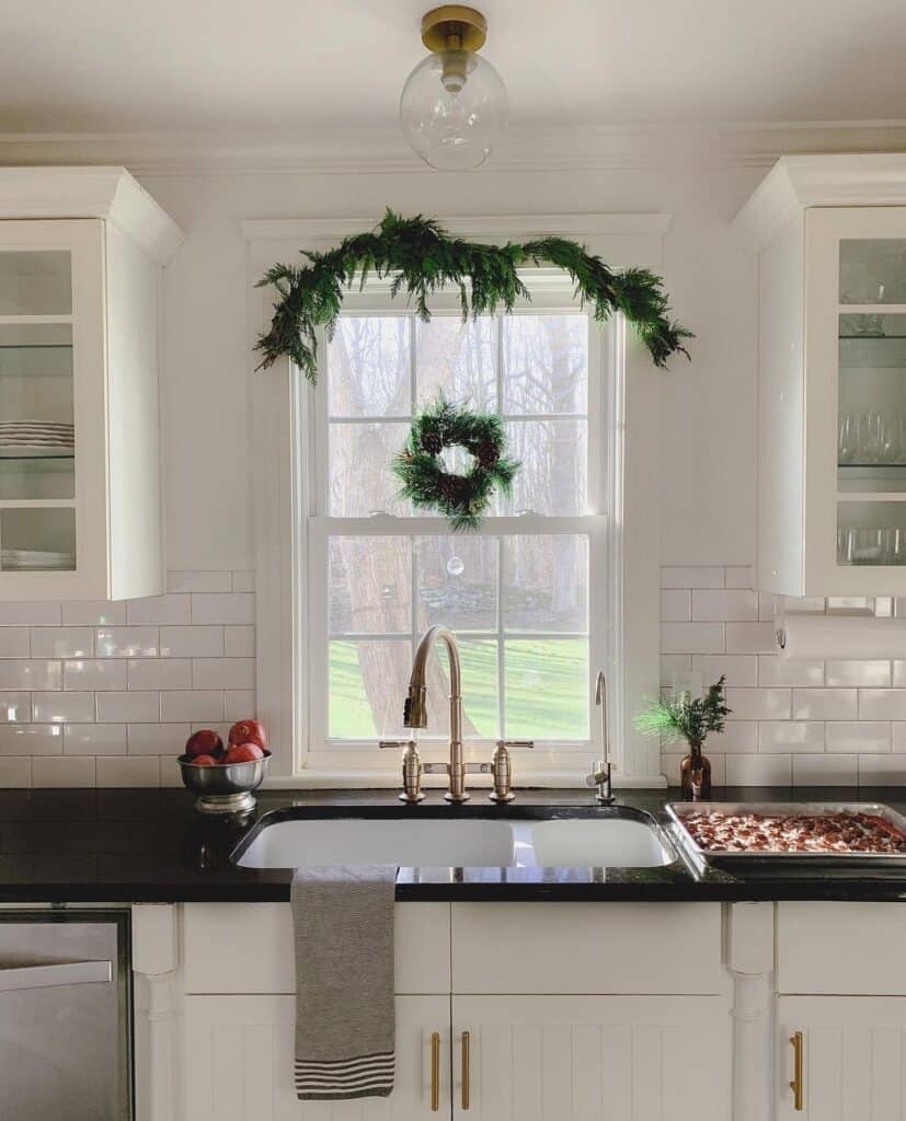
[[[506,630],[588,630],[588,537],[508,537],[501,546]]]

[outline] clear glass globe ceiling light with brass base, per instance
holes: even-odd
[[[422,19],[422,41],[432,53],[406,78],[399,123],[413,149],[441,172],[479,167],[507,117],[500,75],[477,52],[488,22],[463,4],[434,8]]]

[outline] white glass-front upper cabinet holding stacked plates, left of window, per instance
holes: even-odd
[[[163,591],[160,270],[122,168],[0,169],[0,600]]]

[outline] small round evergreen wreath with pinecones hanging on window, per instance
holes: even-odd
[[[494,490],[509,494],[519,470],[518,461],[505,454],[506,444],[499,416],[451,405],[441,396],[415,417],[390,470],[403,482],[400,494],[414,506],[440,510],[454,530],[477,529]],[[449,472],[441,458],[445,447],[454,446],[474,458],[465,474]]]

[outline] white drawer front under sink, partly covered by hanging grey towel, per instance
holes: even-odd
[[[294,993],[289,904],[186,904],[188,993]],[[450,905],[397,904],[396,991],[450,992]]]

